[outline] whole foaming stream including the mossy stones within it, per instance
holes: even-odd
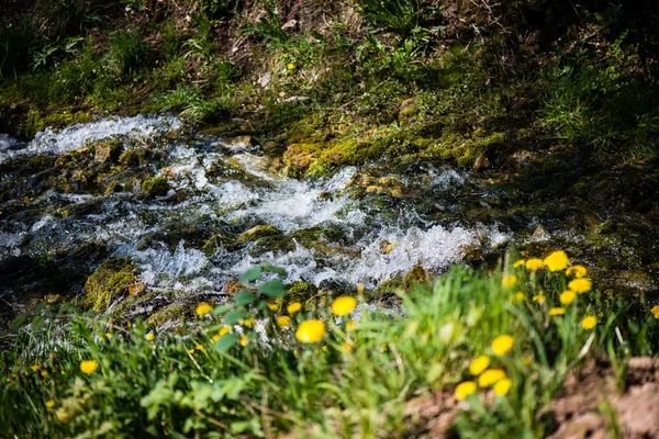
[[[94,155],[103,139],[119,140],[122,157],[146,149],[152,159],[127,166],[100,157],[99,147]],[[70,160],[79,161],[63,165]],[[177,296],[223,294],[260,263],[283,268],[287,282],[375,289],[418,266],[439,272],[510,238],[499,224],[446,215],[459,211],[457,193],[478,192],[467,172],[420,166],[378,185],[345,167],[300,181],[282,177],[277,158],[252,138],[199,134],[174,116],[99,120],[27,143],[0,135],[0,297],[13,308],[21,295],[83,294],[86,277],[118,257],[138,267],[136,282],[148,291]],[[100,185],[91,188],[87,168]],[[153,177],[167,185],[147,195],[139,181]],[[64,180],[65,190],[51,184]],[[103,190],[109,181],[116,183]],[[389,196],[396,188],[416,196]]]

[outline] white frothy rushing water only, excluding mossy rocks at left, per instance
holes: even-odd
[[[45,191],[29,203],[32,214],[0,223],[0,260],[48,257],[93,244],[108,249],[104,258],[134,260],[141,280],[152,289],[221,291],[226,281],[261,262],[284,268],[288,281],[361,282],[375,288],[415,266],[439,271],[460,261],[468,248],[492,248],[506,240],[493,225],[440,224],[414,203],[382,206],[372,196],[356,196],[361,170],[355,167],[326,180],[288,179],[278,175],[259,145],[183,135],[183,128],[175,117],[136,116],[59,133],[46,130],[26,144],[0,136],[0,161],[35,154],[58,156],[110,136],[121,136],[126,144],[157,145],[165,160],[154,173],[167,178],[170,188],[152,199],[130,191],[105,195]],[[231,171],[216,172],[227,166]],[[434,205],[442,211],[451,209],[447,199],[467,179],[454,169],[428,167],[407,177],[406,183],[436,194]],[[186,196],[177,196],[180,193]],[[199,243],[169,238],[189,227],[208,236],[217,232],[236,236],[258,225],[275,226],[292,245],[257,251],[254,243],[219,244],[204,251]],[[300,239],[305,230],[321,232],[310,244]]]

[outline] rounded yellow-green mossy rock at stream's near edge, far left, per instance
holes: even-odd
[[[104,311],[111,302],[127,292],[129,284],[135,281],[136,269],[127,258],[114,258],[101,263],[87,278],[85,304],[97,313]]]

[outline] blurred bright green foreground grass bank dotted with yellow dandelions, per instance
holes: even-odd
[[[196,318],[176,331],[71,317],[71,309],[40,312],[31,328],[20,330],[15,348],[1,353],[5,432],[404,437],[423,430],[405,414],[410,399],[436,390],[453,398],[459,383],[481,381],[474,393],[457,391],[465,401],[454,432],[540,437],[551,432],[544,410],[585,358],[624,364],[630,356],[656,356],[659,347],[659,326],[647,309],[596,289],[561,303],[576,278],[546,267],[490,273],[454,268],[399,293],[400,312],[360,308],[356,324],[332,314],[333,297],[291,316],[269,306],[284,292],[272,270],[279,271],[249,270],[233,303],[200,304]],[[360,291],[355,297],[364,302]],[[551,316],[555,307],[565,314]],[[350,308],[344,304],[334,313]],[[290,317],[288,326],[279,326],[281,316]],[[592,326],[584,326],[587,316]],[[326,333],[317,342],[300,342],[301,324],[310,319],[324,322]],[[495,341],[502,335],[512,346]],[[498,381],[510,380],[510,389],[473,376],[480,371],[471,373],[469,364],[479,356],[488,356],[490,370],[503,370]],[[86,373],[82,361],[96,369]]]

